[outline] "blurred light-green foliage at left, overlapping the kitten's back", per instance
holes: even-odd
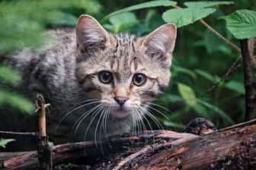
[[[49,40],[43,30],[49,27],[75,26],[79,14],[96,14],[101,5],[92,0],[0,1],[0,61],[24,47],[37,48]],[[21,81],[17,71],[0,65],[0,106],[11,106],[32,114],[34,104],[14,88]],[[1,113],[3,114],[3,113]]]

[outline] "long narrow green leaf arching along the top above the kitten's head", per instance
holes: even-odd
[[[144,9],[144,8],[152,8],[152,7],[159,7],[159,6],[174,6],[176,5],[177,2],[173,2],[173,1],[167,1],[167,0],[160,0],[160,1],[152,1],[152,2],[144,2],[138,5],[133,5],[127,8],[123,8],[119,11],[114,11],[113,13],[107,15],[106,17],[103,18],[103,20],[101,21],[104,22],[105,20],[107,20],[109,17],[115,15],[115,14],[120,14],[122,12],[127,12],[127,11],[135,11],[138,9]]]

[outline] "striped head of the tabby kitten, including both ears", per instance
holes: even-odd
[[[98,99],[114,118],[145,112],[148,102],[168,86],[174,24],[137,38],[107,33],[93,17],[82,15],[76,36],[76,77],[87,97]]]

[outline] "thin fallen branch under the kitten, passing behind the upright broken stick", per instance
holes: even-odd
[[[174,143],[183,143],[197,137],[194,134],[179,134],[173,131],[146,131],[138,136],[116,136],[102,140],[98,143],[94,143],[94,141],[66,143],[52,147],[53,164],[58,165],[62,162],[69,162],[81,157],[85,157],[85,159],[100,159],[100,156],[104,155],[104,153],[116,153],[118,150],[122,150],[124,144],[132,146],[134,143],[138,142],[145,143],[145,140],[149,140],[146,136],[154,140],[168,139]],[[96,145],[101,147],[95,147]],[[102,153],[102,150],[104,150],[104,153]],[[22,170],[27,169],[28,167],[37,168],[38,165],[37,152],[25,154],[2,162],[2,167],[5,169]]]

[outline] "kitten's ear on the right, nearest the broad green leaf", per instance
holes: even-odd
[[[176,32],[177,29],[174,24],[165,24],[143,37],[142,46],[146,47],[146,54],[153,61],[162,62],[162,64],[170,66]]]

